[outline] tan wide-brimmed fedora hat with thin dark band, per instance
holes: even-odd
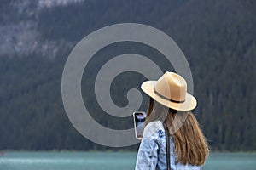
[[[161,105],[177,111],[195,109],[196,99],[187,93],[187,82],[174,72],[166,72],[158,81],[143,82],[143,92]]]

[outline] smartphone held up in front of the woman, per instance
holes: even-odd
[[[146,120],[147,113],[145,111],[135,111],[133,113],[135,137],[137,139],[143,138],[144,122]]]

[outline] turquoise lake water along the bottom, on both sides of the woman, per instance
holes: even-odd
[[[136,152],[6,152],[0,170],[134,169]],[[256,153],[211,153],[203,170],[256,170]]]

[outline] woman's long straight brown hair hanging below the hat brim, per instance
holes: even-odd
[[[198,166],[204,164],[209,153],[209,148],[207,140],[201,132],[199,123],[193,113],[191,111],[176,111],[161,105],[162,108],[166,108],[166,113],[163,113],[165,111],[162,111],[159,108],[160,106],[155,105],[155,103],[157,102],[150,98],[145,124],[147,125],[148,122],[157,119],[162,120],[166,124],[174,141],[175,154],[177,155],[176,163],[180,162]],[[185,115],[186,117],[176,130],[172,123],[175,122],[176,116],[177,122],[179,121],[179,115]]]

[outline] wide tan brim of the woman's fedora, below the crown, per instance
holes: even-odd
[[[166,107],[172,108],[177,111],[190,111],[195,109],[196,107],[196,99],[193,95],[187,93],[186,94],[186,99],[183,103],[177,103],[177,102],[172,102],[167,99],[161,98],[159,95],[154,93],[154,84],[157,81],[146,81],[143,82],[141,88],[143,89],[143,92],[148,94],[151,98],[159,102],[161,105],[165,105]]]

